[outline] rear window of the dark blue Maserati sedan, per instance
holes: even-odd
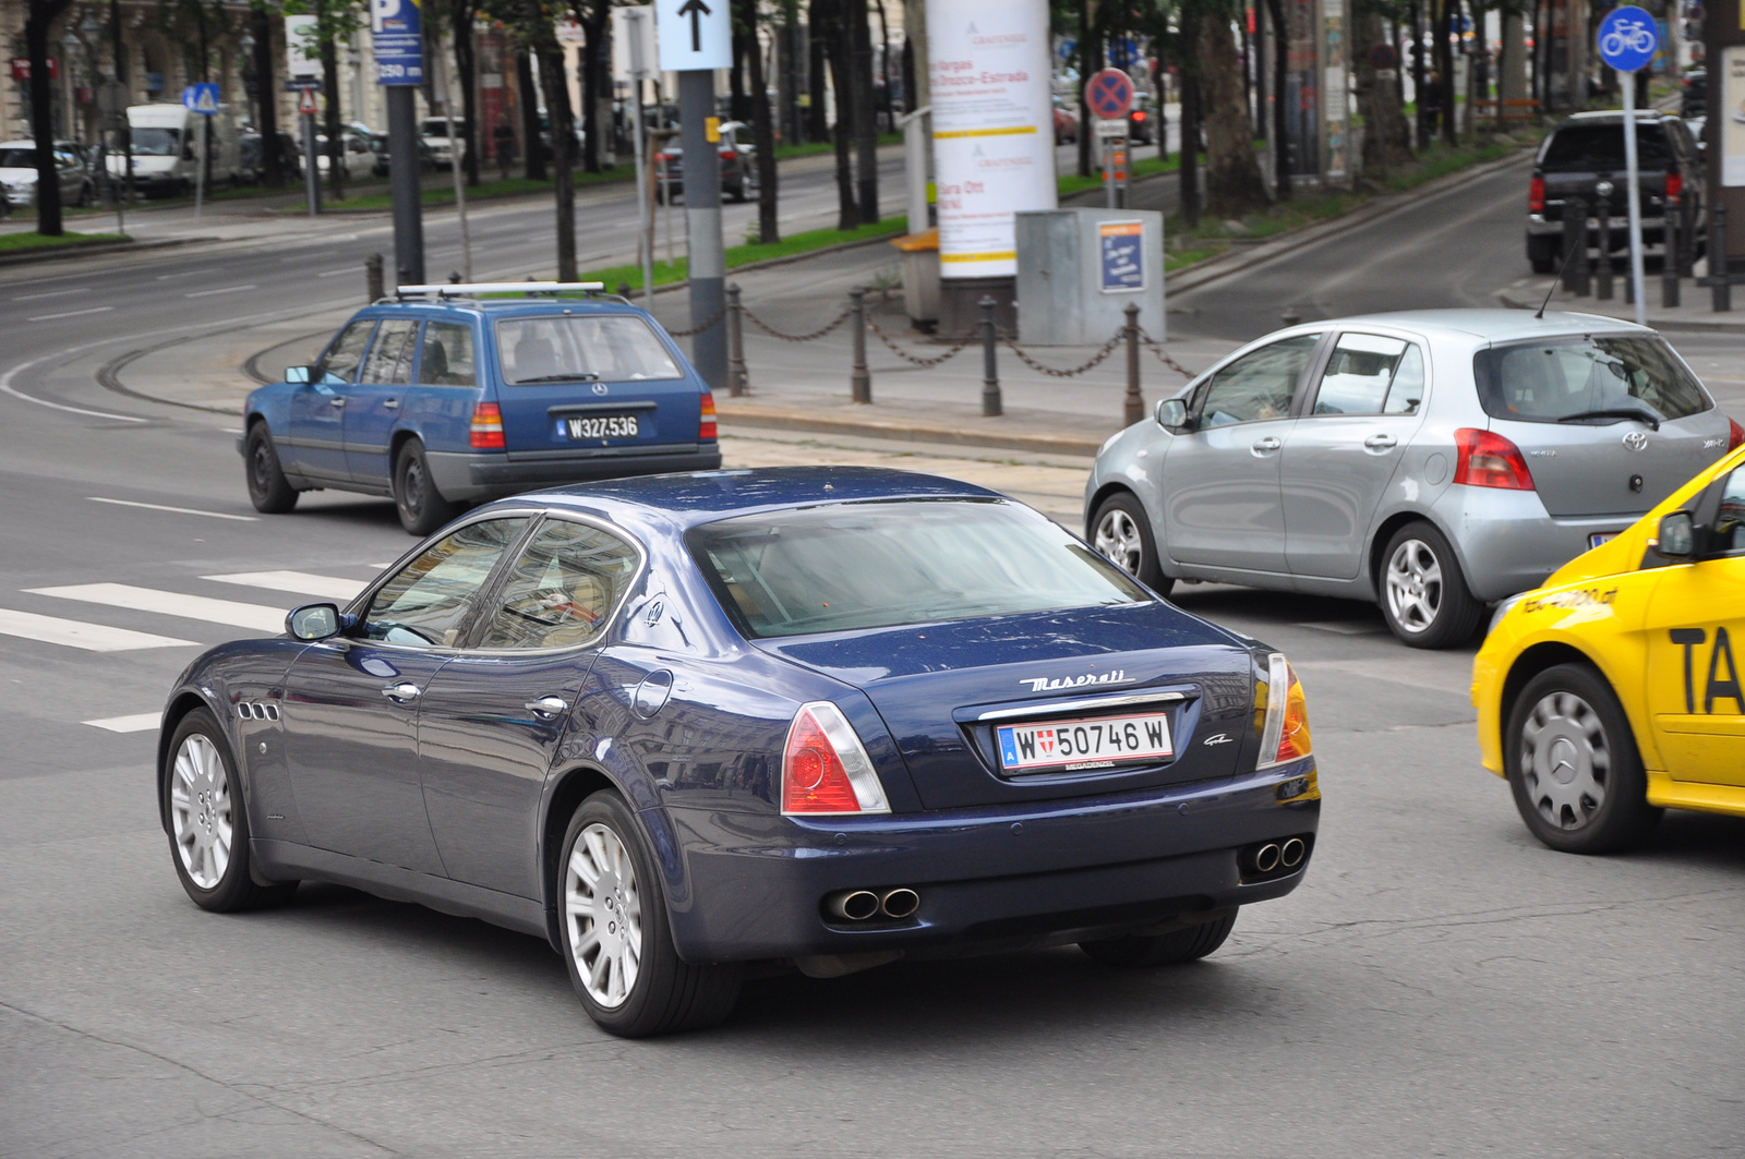
[[[686,543],[752,639],[1150,599],[1057,524],[1000,499],[742,515],[695,527]]]

